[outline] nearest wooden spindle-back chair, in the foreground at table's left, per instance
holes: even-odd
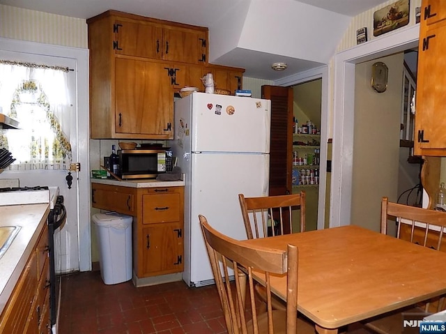
[[[314,324],[297,317],[298,248],[295,245],[288,245],[286,251],[252,247],[213,229],[203,215],[199,215],[199,221],[229,334],[315,333]],[[232,281],[231,268],[245,275],[234,275]],[[253,270],[264,272],[262,280],[268,301],[272,297],[270,275],[286,275],[285,312],[272,310],[271,303],[268,303],[266,312],[257,312]]]

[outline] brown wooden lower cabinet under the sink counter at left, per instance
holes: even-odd
[[[49,326],[48,227],[40,233],[0,317],[1,334],[51,333]]]

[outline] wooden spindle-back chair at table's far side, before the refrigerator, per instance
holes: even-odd
[[[300,209],[300,231],[305,231],[305,192],[299,194],[245,197],[238,194],[249,239],[291,233],[292,211]]]

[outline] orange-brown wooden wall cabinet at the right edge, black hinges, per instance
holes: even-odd
[[[423,0],[418,47],[415,155],[446,156],[446,7]]]

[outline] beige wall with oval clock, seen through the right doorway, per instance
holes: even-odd
[[[383,196],[396,202],[403,53],[356,65],[351,223],[380,231]],[[371,66],[389,68],[388,87],[371,88]]]

